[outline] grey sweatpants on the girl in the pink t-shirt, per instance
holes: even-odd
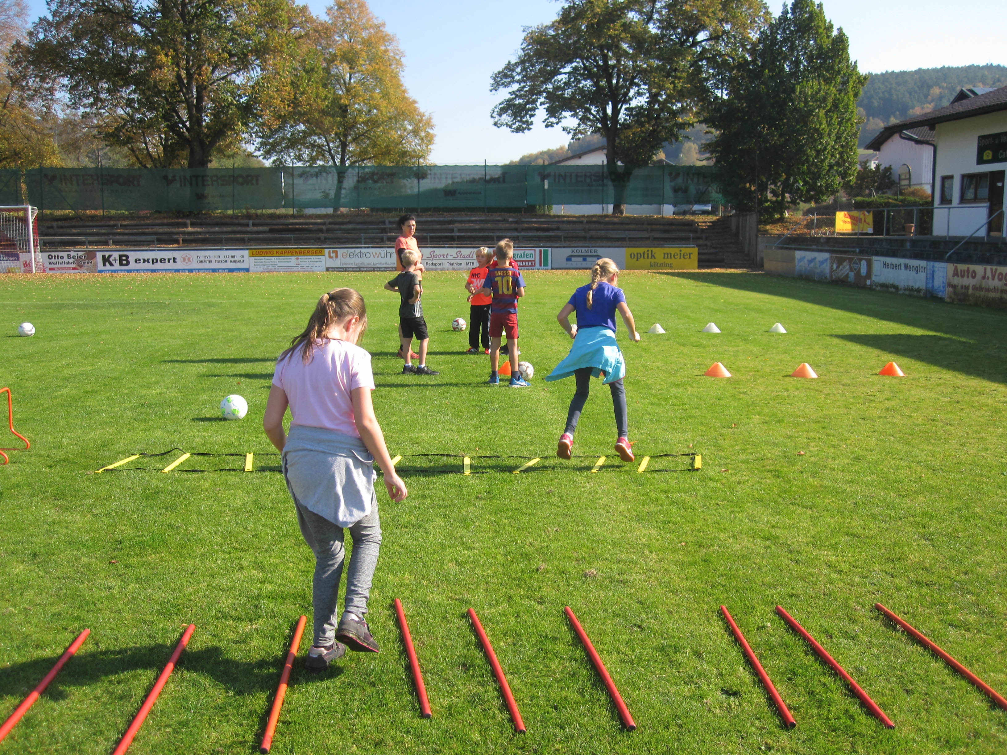
[[[336,599],[346,555],[342,542],[343,531],[338,524],[309,511],[300,503],[295,502],[294,505],[297,507],[297,523],[300,524],[301,535],[315,556],[315,573],[311,582],[314,645],[328,645],[335,638],[335,627],[339,623]],[[381,549],[381,520],[378,517],[377,501],[370,514],[349,527],[349,537],[353,541],[353,554],[346,573],[343,610],[363,617],[368,612],[371,581],[375,576],[378,551]]]

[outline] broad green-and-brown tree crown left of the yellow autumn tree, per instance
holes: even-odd
[[[144,167],[206,167],[255,110],[262,61],[289,52],[290,0],[50,0],[12,59],[36,97],[80,109]]]

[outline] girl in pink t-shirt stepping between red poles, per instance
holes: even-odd
[[[371,354],[356,345],[367,329],[364,297],[350,288],[318,300],[304,331],[280,354],[263,428],[283,457],[301,534],[315,556],[314,641],[308,670],[320,671],[351,650],[378,652],[365,616],[381,548],[375,462],[392,500],[409,494],[396,474],[375,417]],[[290,409],[290,432],[283,417]],[[336,601],[345,551],[353,540],[342,617]]]

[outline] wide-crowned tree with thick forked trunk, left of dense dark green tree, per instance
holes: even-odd
[[[622,214],[633,168],[692,125],[720,59],[763,12],[761,0],[567,0],[493,74],[492,92],[510,90],[493,123],[528,131],[542,110],[575,138],[600,134]]]

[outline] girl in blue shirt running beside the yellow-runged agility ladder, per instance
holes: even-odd
[[[603,257],[591,268],[591,282],[574,291],[570,301],[563,305],[556,316],[563,329],[573,338],[573,346],[567,357],[556,365],[546,380],[559,381],[572,374],[577,381],[577,392],[570,402],[566,428],[556,448],[556,455],[561,459],[570,458],[573,433],[591,390],[591,378],[600,375],[612,392],[615,427],[618,430],[615,450],[623,461],[634,460],[632,444],[628,438],[626,394],[622,385],[626,368],[622,351],[615,340],[615,313],[622,316],[632,340],[638,341],[639,333],[636,332],[632,312],[626,305],[625,294],[616,286],[618,280],[618,267],[612,260]],[[571,325],[570,315],[574,312],[577,313],[577,324]]]

